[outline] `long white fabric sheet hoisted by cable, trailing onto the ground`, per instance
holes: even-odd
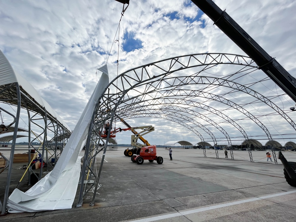
[[[15,189],[9,196],[10,213],[70,209],[74,202],[79,176],[78,157],[87,139],[91,118],[100,95],[109,84],[107,65],[99,68],[102,76],[91,95],[54,169],[27,192]]]

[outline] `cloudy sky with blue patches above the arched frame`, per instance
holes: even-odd
[[[296,77],[296,1],[215,3]],[[130,0],[117,31],[122,7],[114,0],[0,0],[0,50],[15,72],[36,88],[71,129],[99,80],[96,69],[107,59],[112,80],[133,67],[173,56],[206,52],[245,55],[191,1]],[[170,121],[133,119],[132,124],[153,124],[156,131],[161,129],[162,136],[147,136],[152,144],[197,140],[192,132],[180,137],[177,131],[184,128]],[[117,140],[129,143],[129,138],[118,136]]]

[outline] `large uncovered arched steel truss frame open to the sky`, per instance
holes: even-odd
[[[101,149],[97,144],[102,141],[99,132],[103,131],[105,123],[109,122],[112,127],[121,118],[165,118],[194,132],[202,143],[208,141],[205,139],[208,136],[214,144],[217,144],[217,138],[226,140],[233,159],[231,141],[237,138],[232,136],[233,128],[241,134],[243,140],[260,135],[248,132],[244,126],[246,122],[258,126],[268,141],[274,135],[270,133],[270,126],[266,126],[268,118],[280,117],[292,131],[296,131],[296,124],[277,102],[288,101],[289,98],[281,90],[269,90],[266,94],[270,85],[276,87],[270,78],[258,70],[252,59],[235,54],[185,55],[136,67],[120,74],[106,87],[94,111],[81,181],[84,181],[84,172],[87,169],[92,171],[93,160],[101,151],[102,161],[99,173],[91,172],[94,174],[94,182],[80,187],[77,207],[82,205],[83,197],[90,189],[94,192],[90,205],[94,205],[107,149],[107,143]],[[264,112],[259,112],[258,107],[263,105]],[[250,108],[257,111],[253,113]],[[230,111],[235,112],[235,117],[228,115]],[[109,136],[110,133],[107,140]],[[252,161],[250,147],[247,148]],[[275,157],[273,147],[272,151]],[[205,152],[204,155],[206,156]],[[217,150],[216,157],[218,158]]]

